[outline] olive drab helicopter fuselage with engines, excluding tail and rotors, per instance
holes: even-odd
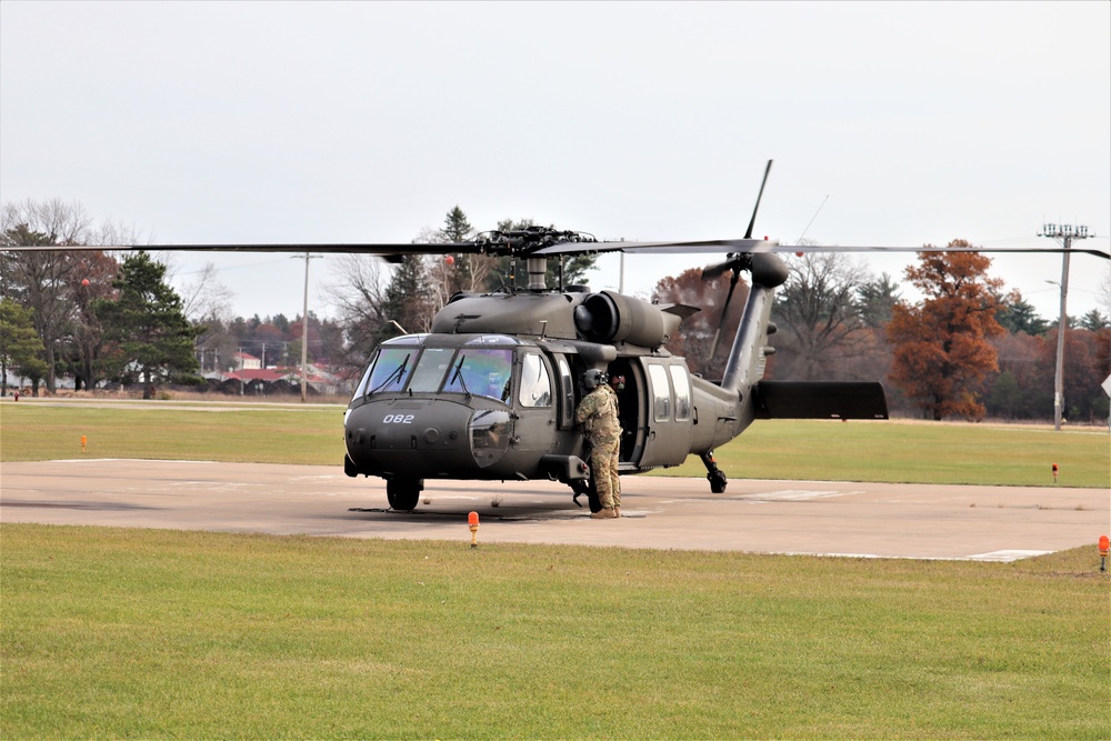
[[[610,292],[460,297],[438,314],[439,331],[376,350],[347,411],[347,472],[577,487],[589,478],[574,420],[589,369],[627,378],[623,473],[712,449],[735,437],[735,394],[693,378],[663,348],[685,316],[667,309]],[[630,334],[652,347],[630,343]]]

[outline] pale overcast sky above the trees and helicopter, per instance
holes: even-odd
[[[818,213],[823,244],[1052,247],[1055,222],[1108,250],[1111,3],[0,3],[0,199],[159,243],[408,242],[456,204],[740,237],[768,159],[758,237]],[[238,313],[300,313],[303,260],[182,257],[178,280],[207,260]],[[714,261],[630,256],[625,289]],[[1107,313],[1108,271],[1072,259],[1070,313]],[[1059,256],[992,272],[1057,317]]]

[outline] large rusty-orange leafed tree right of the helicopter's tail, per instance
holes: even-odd
[[[971,244],[960,239],[949,247]],[[925,299],[894,307],[889,379],[929,419],[980,420],[985,409],[977,389],[999,368],[989,340],[1005,332],[995,321],[1003,281],[988,277],[991,260],[977,252],[920,252],[918,259],[905,276]]]

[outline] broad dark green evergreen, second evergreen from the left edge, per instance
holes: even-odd
[[[193,340],[204,328],[189,323],[181,298],[166,281],[166,266],[137,252],[123,261],[112,284],[119,298],[97,301],[94,312],[104,338],[120,349],[119,375],[138,369],[143,399],[153,397],[156,380],[196,381]]]

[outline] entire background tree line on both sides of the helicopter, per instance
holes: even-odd
[[[498,229],[530,226],[530,219],[506,219]],[[474,238],[456,206],[439,229],[424,229],[413,241]],[[93,228],[79,206],[3,207],[0,249],[139,241],[117,226]],[[950,246],[971,247],[963,240]],[[585,282],[593,264],[593,256],[568,259],[564,284]],[[1018,291],[1004,292],[990,266],[974,252],[920,253],[903,278],[924,298],[910,302],[898,281],[871,274],[844,253],[791,258],[772,312],[779,331],[768,375],[883,380],[895,410],[928,419],[1050,419],[1058,328]],[[157,383],[198,382],[201,372],[232,368],[240,352],[266,366],[300,358],[302,318],[231,317],[230,297],[211,266],[182,296],[169,287],[164,262],[146,252],[118,260],[99,251],[2,251],[0,268],[2,370],[18,369],[50,391],[64,374],[78,388],[139,382],[146,395]],[[326,289],[338,316],[309,312],[310,361],[358,369],[383,340],[428,331],[456,293],[523,287],[523,272],[508,258],[481,254],[408,256],[392,269],[370,256],[343,256]],[[741,279],[727,310],[729,283],[728,274],[704,281],[693,268],[661,279],[651,296],[701,309],[668,349],[711,379],[720,378],[748,293]],[[556,284],[554,276],[548,284]],[[1111,322],[1092,310],[1070,319],[1064,332],[1067,417],[1104,420],[1108,398],[1100,383],[1111,370]],[[721,342],[711,358],[714,333]]]

